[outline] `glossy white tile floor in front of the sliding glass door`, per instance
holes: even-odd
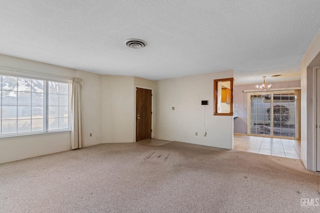
[[[299,140],[234,134],[233,149],[283,158],[300,159]]]

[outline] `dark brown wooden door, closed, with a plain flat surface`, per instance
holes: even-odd
[[[136,88],[135,141],[151,138],[151,90]]]

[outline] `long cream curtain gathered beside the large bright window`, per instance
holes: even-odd
[[[82,117],[81,117],[81,78],[72,78],[71,94],[71,149],[79,149],[82,146]]]

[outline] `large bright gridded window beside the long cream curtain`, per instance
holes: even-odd
[[[0,75],[0,136],[70,129],[70,83]]]

